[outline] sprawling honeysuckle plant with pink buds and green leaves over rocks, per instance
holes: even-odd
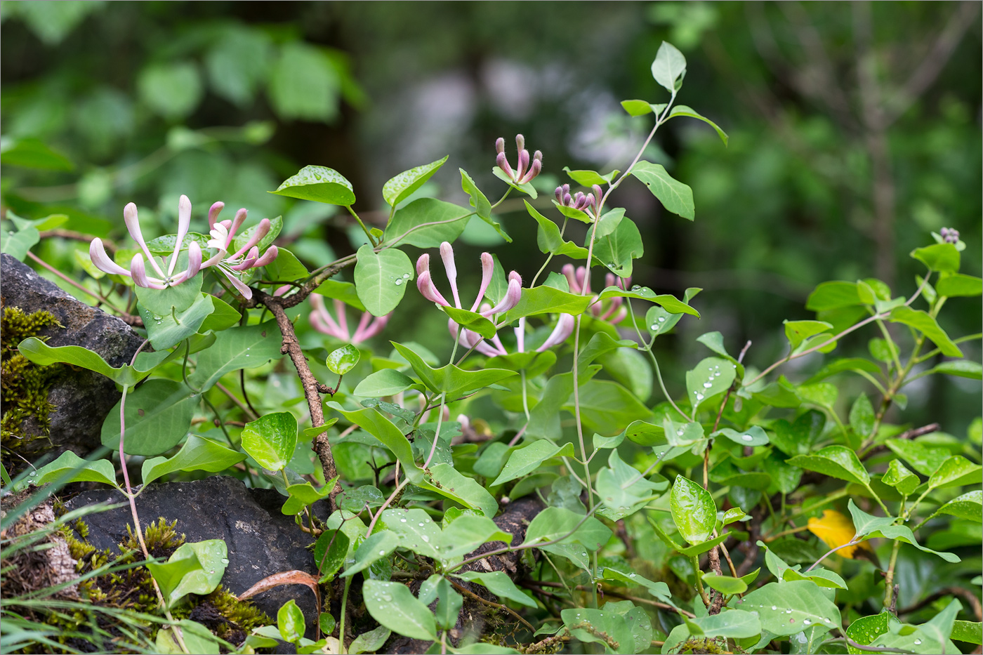
[[[980,278],[960,272],[976,255],[947,227],[911,253],[924,270],[903,292],[870,277],[824,282],[806,301],[814,316],[783,324],[777,360],[706,331],[696,338],[706,356],[686,355],[690,370],[664,380],[654,344],[678,326],[678,338],[701,331],[700,289],[633,285],[633,264],[653,263],[615,204],[622,184],[641,183],[668,213],[695,218],[693,190],[644,158],[674,119],[709,123],[726,143],[676,102],[685,72],[664,43],[652,64],[659,96],[622,102],[651,126],[637,155],[623,171],[564,169],[554,202],[538,200],[543,156],[521,136],[515,167],[503,140],[494,153],[490,144],[506,183],[496,202],[463,169],[467,207],[411,200],[444,157],[386,182],[378,214],[388,218],[371,229],[341,173],[305,167],[274,193],[345,207],[368,235],[335,262],[273,245],[278,217],[237,240],[246,211],[219,221],[221,204],[209,235],[186,244],[185,197],[178,233],[147,243],[127,206],[140,247],[131,268],[100,238],[91,260],[138,285],[116,281],[99,297],[137,308],[120,313],[152,352],[112,368],[79,348],[19,345],[35,365],[89,368],[123,389],[102,430],[119,459],[67,452],[5,489],[112,485],[138,534],[134,499],[163,476],[204,470],[277,489],[317,574],[260,588],[301,580],[319,585],[322,604],[304,617],[288,603],[278,625],[222,645],[242,653],[281,641],[324,653],[974,650],[981,423],[963,438],[944,414],[911,425],[905,409],[926,377],[980,380],[963,352],[978,352],[980,334],[951,337],[942,312],[978,303]],[[502,210],[512,193],[529,199],[518,215]],[[452,243],[476,216],[506,243],[506,227],[535,230],[544,257],[506,275],[483,253],[472,300]],[[583,242],[567,235],[569,218],[586,224]],[[449,295],[434,280],[434,249]],[[406,302],[414,278],[420,295]],[[354,332],[346,304],[365,308]],[[407,326],[422,313],[442,322],[437,312],[452,338],[441,328],[431,352]],[[346,343],[327,352],[321,333]],[[131,484],[130,456],[144,457],[143,487]],[[161,607],[180,607],[172,600],[161,594]]]

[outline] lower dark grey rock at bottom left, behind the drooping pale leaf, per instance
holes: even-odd
[[[66,506],[77,509],[125,500],[117,491],[100,490],[80,494]],[[297,527],[292,516],[280,511],[285,500],[276,490],[247,489],[235,478],[213,476],[194,482],[150,485],[137,499],[137,511],[144,527],[158,517],[177,519],[177,531],[183,532],[189,542],[225,540],[229,564],[222,584],[238,595],[272,573],[303,570],[317,574],[314,556],[307,549],[314,539]],[[326,514],[323,502],[314,508],[318,515]],[[89,528],[87,539],[99,549],[115,549],[126,537],[127,525],[133,522],[129,505],[87,514],[85,520]],[[274,587],[251,600],[276,621],[277,610],[290,599],[304,612],[307,636],[313,639],[318,611],[314,593],[308,587]]]

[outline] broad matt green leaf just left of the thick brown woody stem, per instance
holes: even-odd
[[[230,327],[198,356],[195,373],[188,377],[193,387],[211,388],[227,373],[262,366],[281,357],[282,340],[275,321],[259,326]]]

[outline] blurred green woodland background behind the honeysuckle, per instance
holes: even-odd
[[[781,356],[781,320],[812,318],[804,301],[821,281],[877,276],[910,294],[920,270],[907,253],[932,230],[958,229],[963,270],[980,274],[979,3],[35,0],[3,2],[0,18],[5,208],[67,213],[65,229],[122,238],[133,201],[149,238],[174,231],[180,194],[202,231],[222,200],[255,219],[284,215],[281,240],[310,268],[361,239],[347,214],[266,193],[300,167],[347,176],[378,225],[382,183],[444,154],[435,195],[466,204],[463,167],[497,198],[499,136],[522,132],[544,151],[549,188],[564,165],[624,168],[651,123],[618,101],[665,101],[649,67],[673,43],[688,59],[680,101],[729,146],[675,120],[648,152],[692,187],[694,223],[635,181],[614,196],[646,242],[633,281],[704,288],[704,318],[657,347],[672,389],[707,354],[693,342],[706,331],[732,352],[753,339],[758,368]],[[469,228],[462,274],[482,250],[526,279],[542,264],[521,203],[503,207],[515,243]],[[83,279],[76,250],[87,245],[47,239],[34,252]],[[413,293],[407,302],[423,307]],[[421,318],[384,337],[449,349],[437,313],[407,316]],[[976,298],[951,300],[942,319],[953,336],[980,323]],[[841,350],[864,352],[870,336]],[[980,359],[978,341],[963,350]],[[907,422],[939,420],[961,437],[979,414],[976,381],[929,376],[905,390]]]

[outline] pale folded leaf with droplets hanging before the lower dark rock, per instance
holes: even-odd
[[[228,563],[228,551],[221,539],[184,544],[166,564],[147,562],[146,567],[160,586],[167,606],[188,594],[210,594],[218,587]]]

